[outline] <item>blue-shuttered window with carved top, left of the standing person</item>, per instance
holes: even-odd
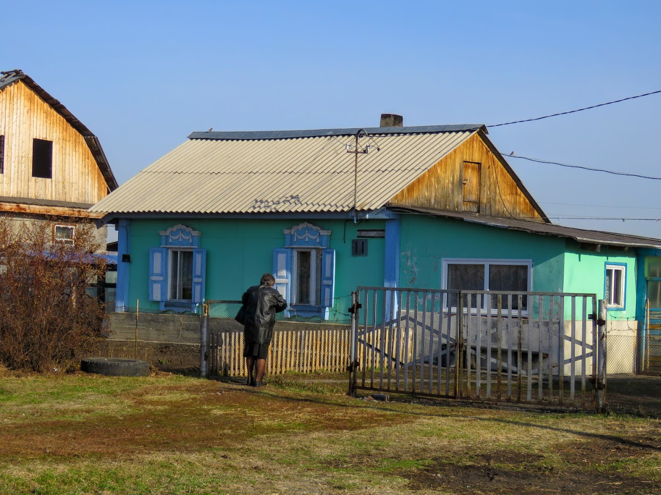
[[[206,249],[200,232],[178,224],[161,234],[161,246],[149,250],[149,300],[161,310],[192,311],[204,301]]]

